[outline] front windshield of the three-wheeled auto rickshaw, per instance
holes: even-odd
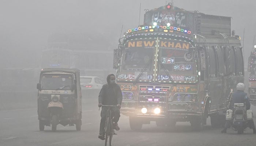
[[[43,90],[70,90],[73,83],[71,74],[43,74],[41,89]]]

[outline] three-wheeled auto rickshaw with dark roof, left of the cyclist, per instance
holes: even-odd
[[[82,94],[78,69],[41,70],[38,89],[38,120],[39,130],[52,126],[56,131],[57,125],[76,125],[81,130],[82,125]]]

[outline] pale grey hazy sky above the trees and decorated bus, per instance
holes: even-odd
[[[231,29],[243,41],[245,62],[256,34],[256,1],[173,0],[187,11],[230,16]],[[143,23],[144,9],[165,5],[166,0],[0,0],[0,68],[35,67],[50,34],[85,33],[106,47],[117,47],[123,33]],[[105,38],[105,39],[104,39]],[[103,40],[104,39],[104,40]],[[256,43],[256,41],[255,41]],[[103,48],[104,49],[104,48]]]

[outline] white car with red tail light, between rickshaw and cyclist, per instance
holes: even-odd
[[[104,84],[105,82],[97,76],[80,76],[80,86],[82,90],[100,90]]]

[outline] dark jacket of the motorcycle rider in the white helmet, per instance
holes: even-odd
[[[234,108],[234,104],[235,103],[245,103],[246,105],[246,110],[249,110],[251,107],[251,103],[249,101],[249,98],[247,96],[247,93],[245,93],[244,91],[236,91],[232,94],[232,98],[231,98],[231,106],[230,109]]]

